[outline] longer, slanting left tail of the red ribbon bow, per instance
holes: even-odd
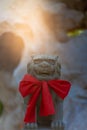
[[[24,118],[24,122],[26,122],[26,123],[36,122],[36,110],[35,109],[36,109],[36,103],[37,103],[39,94],[40,94],[40,88],[38,88],[38,90],[33,93],[33,95],[31,96],[31,98],[29,100],[25,118]]]

